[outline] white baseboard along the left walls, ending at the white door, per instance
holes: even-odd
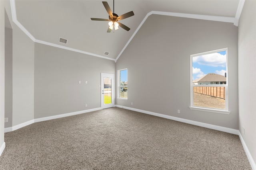
[[[68,117],[68,116],[72,116],[72,115],[78,115],[78,114],[82,114],[82,113],[88,113],[88,112],[97,111],[97,110],[100,110],[100,109],[101,108],[98,107],[98,108],[94,108],[94,109],[75,111],[75,112],[72,112],[72,113],[65,113],[65,114],[61,114],[61,115],[54,115],[54,116],[37,118],[37,119],[33,119],[33,120],[30,120],[30,121],[27,121],[27,122],[24,122],[24,123],[20,123],[18,125],[13,126],[13,127],[6,127],[6,128],[4,128],[4,133],[15,131],[17,129],[20,129],[22,127],[30,125],[32,123],[36,123],[36,122],[40,122],[40,121],[46,121],[46,120],[51,120],[51,119],[58,119],[58,118]]]

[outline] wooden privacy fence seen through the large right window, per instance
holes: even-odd
[[[225,87],[202,87],[202,86],[195,86],[193,87],[193,92],[205,94],[208,96],[213,96],[216,98],[225,99]]]

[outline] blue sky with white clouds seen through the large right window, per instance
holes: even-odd
[[[200,55],[192,58],[193,80],[208,73],[216,73],[222,76],[226,72],[226,51]]]

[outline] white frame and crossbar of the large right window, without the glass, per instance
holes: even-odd
[[[200,55],[207,55],[211,53],[217,53],[220,51],[226,51],[226,84],[193,84],[193,57],[200,56]],[[218,108],[212,108],[212,107],[200,107],[200,106],[194,106],[194,93],[193,93],[193,87],[225,87],[225,109],[218,109]],[[190,55],[190,109],[191,110],[199,110],[199,111],[208,111],[208,112],[214,112],[214,113],[222,113],[222,114],[229,114],[230,111],[228,111],[228,48],[223,49],[217,49],[212,51],[207,51],[203,53],[197,53]]]

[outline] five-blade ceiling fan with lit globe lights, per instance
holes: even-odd
[[[103,1],[102,4],[106,8],[106,11],[108,12],[108,19],[102,19],[102,18],[91,18],[93,21],[109,21],[108,22],[108,30],[107,33],[110,33],[113,29],[117,30],[118,26],[122,27],[126,31],[129,31],[130,28],[127,27],[126,25],[120,23],[120,20],[123,20],[125,18],[129,18],[131,16],[134,16],[133,11],[127,12],[121,16],[118,16],[117,14],[114,13],[114,0],[113,0],[113,12],[111,11],[108,2]]]

